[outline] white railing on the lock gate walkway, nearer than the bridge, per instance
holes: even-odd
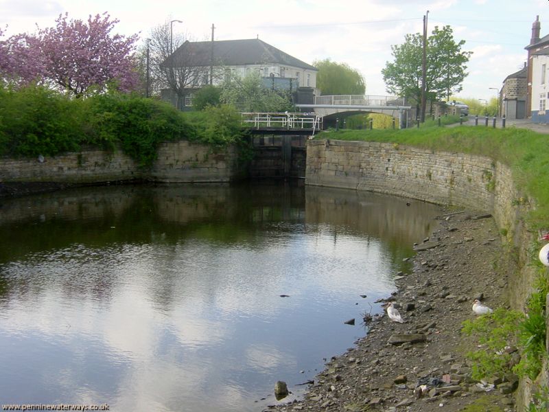
[[[256,129],[309,129],[320,130],[320,117],[316,113],[240,113],[245,126]]]

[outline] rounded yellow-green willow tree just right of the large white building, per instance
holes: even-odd
[[[347,63],[336,63],[327,58],[316,60],[313,65],[318,69],[316,87],[323,95],[363,95],[366,91],[362,75]]]

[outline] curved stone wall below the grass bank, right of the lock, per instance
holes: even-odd
[[[524,224],[527,205],[511,169],[488,157],[366,141],[307,143],[305,183],[396,194],[493,214],[506,238],[504,265],[511,307],[524,310],[536,269],[528,264],[534,236]],[[514,252],[514,253],[513,253]],[[549,339],[548,339],[549,341]],[[547,381],[547,376],[540,379]],[[523,380],[517,406],[526,410],[531,386]]]

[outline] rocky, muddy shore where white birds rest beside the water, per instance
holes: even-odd
[[[438,219],[439,228],[414,247],[412,273],[385,299],[406,323],[386,313],[366,319],[368,335],[331,358],[303,400],[266,411],[515,411],[516,380],[475,382],[465,354],[476,342],[460,332],[476,316],[474,299],[508,306],[498,229],[480,213],[448,211]]]

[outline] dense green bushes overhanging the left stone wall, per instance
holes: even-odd
[[[187,139],[213,146],[242,140],[240,115],[229,106],[185,115],[170,104],[132,95],[71,99],[44,87],[0,85],[0,155],[54,156],[82,145],[118,145],[143,168],[161,141]]]

